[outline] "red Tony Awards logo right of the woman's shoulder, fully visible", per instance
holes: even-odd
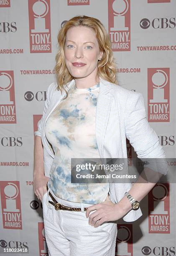
[[[148,69],[148,119],[169,122],[169,69]]]

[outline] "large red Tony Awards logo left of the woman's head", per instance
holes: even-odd
[[[31,53],[51,52],[49,0],[28,0]]]

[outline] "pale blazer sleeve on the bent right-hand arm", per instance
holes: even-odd
[[[150,127],[145,111],[143,95],[129,92],[125,108],[125,133],[134,151],[148,167],[163,175],[167,174],[166,155],[159,138]]]

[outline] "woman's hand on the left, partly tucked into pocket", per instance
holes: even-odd
[[[47,192],[46,184],[50,178],[46,177],[45,175],[38,174],[33,177],[33,190],[37,197],[40,197],[42,201],[43,195]]]

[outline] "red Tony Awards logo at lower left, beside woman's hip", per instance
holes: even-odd
[[[22,229],[19,182],[0,182],[3,225],[8,229]]]

